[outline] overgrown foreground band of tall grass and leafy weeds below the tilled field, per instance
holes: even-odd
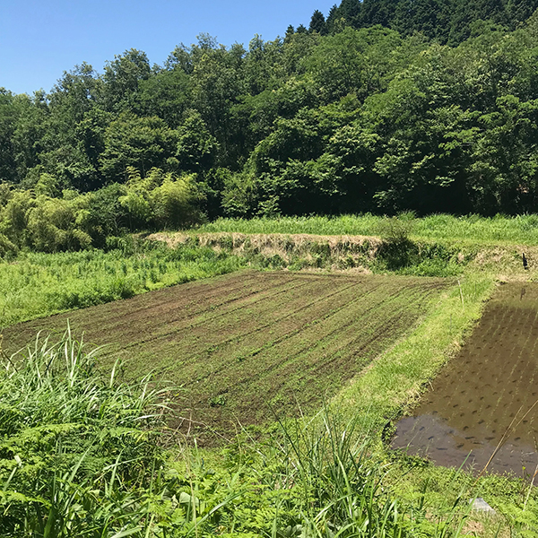
[[[435,512],[396,499],[395,463],[355,419],[325,410],[263,443],[199,451],[163,427],[169,393],[100,377],[95,358],[69,331],[2,357],[2,536],[461,535],[463,498]]]

